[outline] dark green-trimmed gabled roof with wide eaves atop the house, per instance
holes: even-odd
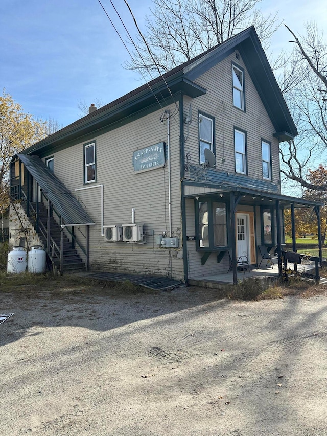
[[[268,112],[279,141],[293,139],[298,133],[282,96],[254,27],[250,27],[199,56],[184,62],[156,79],[99,108],[87,116],[27,148],[24,154],[41,154],[81,136],[122,121],[146,107],[155,107],[157,100],[171,102],[171,94],[182,93],[192,98],[206,93],[194,80],[218,62],[238,50],[251,79]],[[168,89],[169,87],[169,89]]]

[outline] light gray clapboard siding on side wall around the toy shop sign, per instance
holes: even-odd
[[[171,107],[173,113],[175,105]],[[90,267],[152,273],[183,279],[181,258],[179,114],[171,117],[171,210],[172,233],[180,238],[178,249],[155,244],[155,235],[169,233],[168,165],[143,173],[134,173],[133,152],[159,142],[166,143],[167,121],[160,122],[164,109],[118,127],[67,149],[54,153],[55,174],[76,195],[96,222],[90,226]],[[83,144],[96,141],[95,183],[83,185]],[[104,225],[144,223],[146,244],[105,242],[101,228],[101,185],[103,185]],[[91,188],[95,186],[95,188]],[[87,189],[81,189],[87,188]],[[77,190],[77,191],[76,191]],[[85,228],[75,228],[85,246]]]

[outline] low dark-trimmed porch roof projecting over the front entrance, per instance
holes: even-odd
[[[193,193],[191,195],[185,195],[186,198],[205,198],[218,196],[221,200],[227,200],[230,194],[233,193],[236,197],[241,196],[239,204],[251,205],[251,206],[267,206],[271,207],[275,204],[276,200],[284,208],[290,208],[293,204],[295,208],[310,208],[314,206],[324,206],[322,202],[308,201],[304,198],[289,197],[287,195],[267,193],[256,191],[252,189],[239,188],[239,187],[225,187],[224,189],[210,190],[210,192],[201,193],[201,188],[199,188],[199,193]],[[203,188],[202,188],[203,189]]]

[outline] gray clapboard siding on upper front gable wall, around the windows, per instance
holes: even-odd
[[[232,61],[244,68],[245,111],[233,106]],[[234,128],[238,128],[246,131],[247,168],[250,178],[263,179],[261,140],[271,143],[271,183],[278,185],[280,191],[279,143],[272,136],[275,133],[274,127],[242,59],[236,61],[235,54],[232,54],[195,81],[205,87],[207,93],[193,100],[184,99],[185,116],[189,113],[190,104],[193,116],[192,124],[184,127],[184,135],[188,137],[185,155],[189,153],[189,160],[185,157],[186,162],[191,165],[199,164],[198,111],[201,111],[215,118],[217,170],[235,173]],[[225,159],[224,164],[221,163],[221,159]]]

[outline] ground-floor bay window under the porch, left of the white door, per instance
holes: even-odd
[[[228,247],[226,203],[208,199],[197,202],[198,244],[201,249]]]

